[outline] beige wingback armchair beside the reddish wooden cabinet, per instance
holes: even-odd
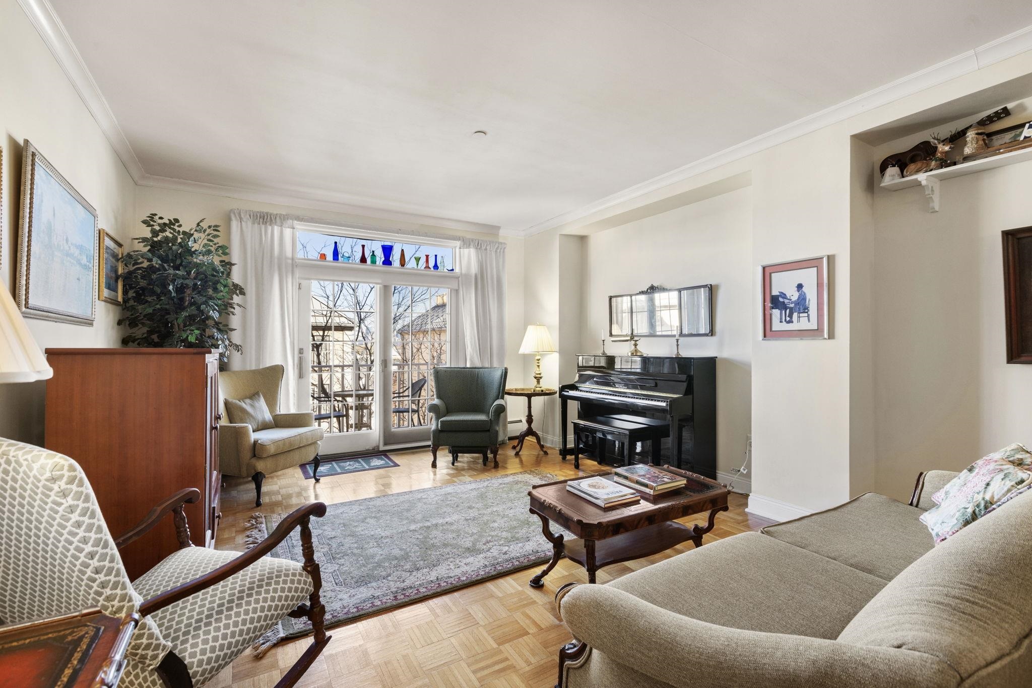
[[[255,506],[261,506],[261,484],[268,473],[313,462],[312,474],[319,482],[319,447],[323,429],[316,427],[311,412],[281,414],[280,386],[283,366],[219,373],[219,469],[230,476],[250,478],[255,484]],[[247,399],[261,392],[276,427],[255,430],[245,423],[230,423],[226,399]]]

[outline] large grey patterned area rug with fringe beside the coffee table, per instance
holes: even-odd
[[[312,519],[326,626],[548,561],[552,546],[527,510],[526,493],[554,480],[526,470],[329,504],[326,516]],[[255,514],[248,544],[261,542],[286,516]],[[302,562],[297,531],[269,556]],[[284,619],[255,653],[310,632],[307,619]]]

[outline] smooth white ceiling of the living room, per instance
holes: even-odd
[[[1027,0],[51,3],[146,173],[507,231],[1032,24]]]

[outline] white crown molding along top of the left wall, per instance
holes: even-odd
[[[90,114],[97,121],[100,130],[104,132],[104,136],[115,149],[116,155],[125,165],[129,176],[132,177],[133,182],[139,184],[139,179],[143,176],[143,167],[136,159],[136,154],[129,145],[129,139],[122,132],[122,127],[115,119],[115,113],[107,105],[107,100],[100,93],[90,70],[86,68],[83,56],[78,54],[75,44],[71,42],[71,37],[65,31],[64,25],[58,19],[57,12],[54,11],[54,7],[51,6],[49,0],[18,0],[18,4],[32,22],[43,42],[46,43],[54,59],[61,65],[61,69],[64,70],[68,80],[78,93],[78,97],[82,98],[86,108],[90,110]]]

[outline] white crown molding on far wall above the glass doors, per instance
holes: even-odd
[[[343,212],[345,215],[360,216],[377,220],[390,220],[412,225],[427,225],[431,227],[442,227],[454,229],[460,232],[478,232],[481,234],[497,235],[499,229],[497,225],[488,225],[480,222],[466,220],[455,220],[452,218],[441,218],[432,215],[424,215],[418,211],[407,209],[393,209],[383,206],[361,205],[349,202],[349,198],[344,195],[333,198],[333,194],[318,192],[318,195],[307,195],[282,193],[268,189],[244,189],[239,187],[228,187],[221,184],[206,184],[203,182],[191,182],[189,179],[174,179],[168,176],[156,176],[154,174],[143,174],[136,181],[140,187],[153,187],[156,189],[169,189],[172,191],[185,191],[193,194],[204,194],[206,196],[226,196],[240,200],[257,201],[259,203],[275,203],[277,205],[292,205],[314,210],[328,210],[330,212]]]

